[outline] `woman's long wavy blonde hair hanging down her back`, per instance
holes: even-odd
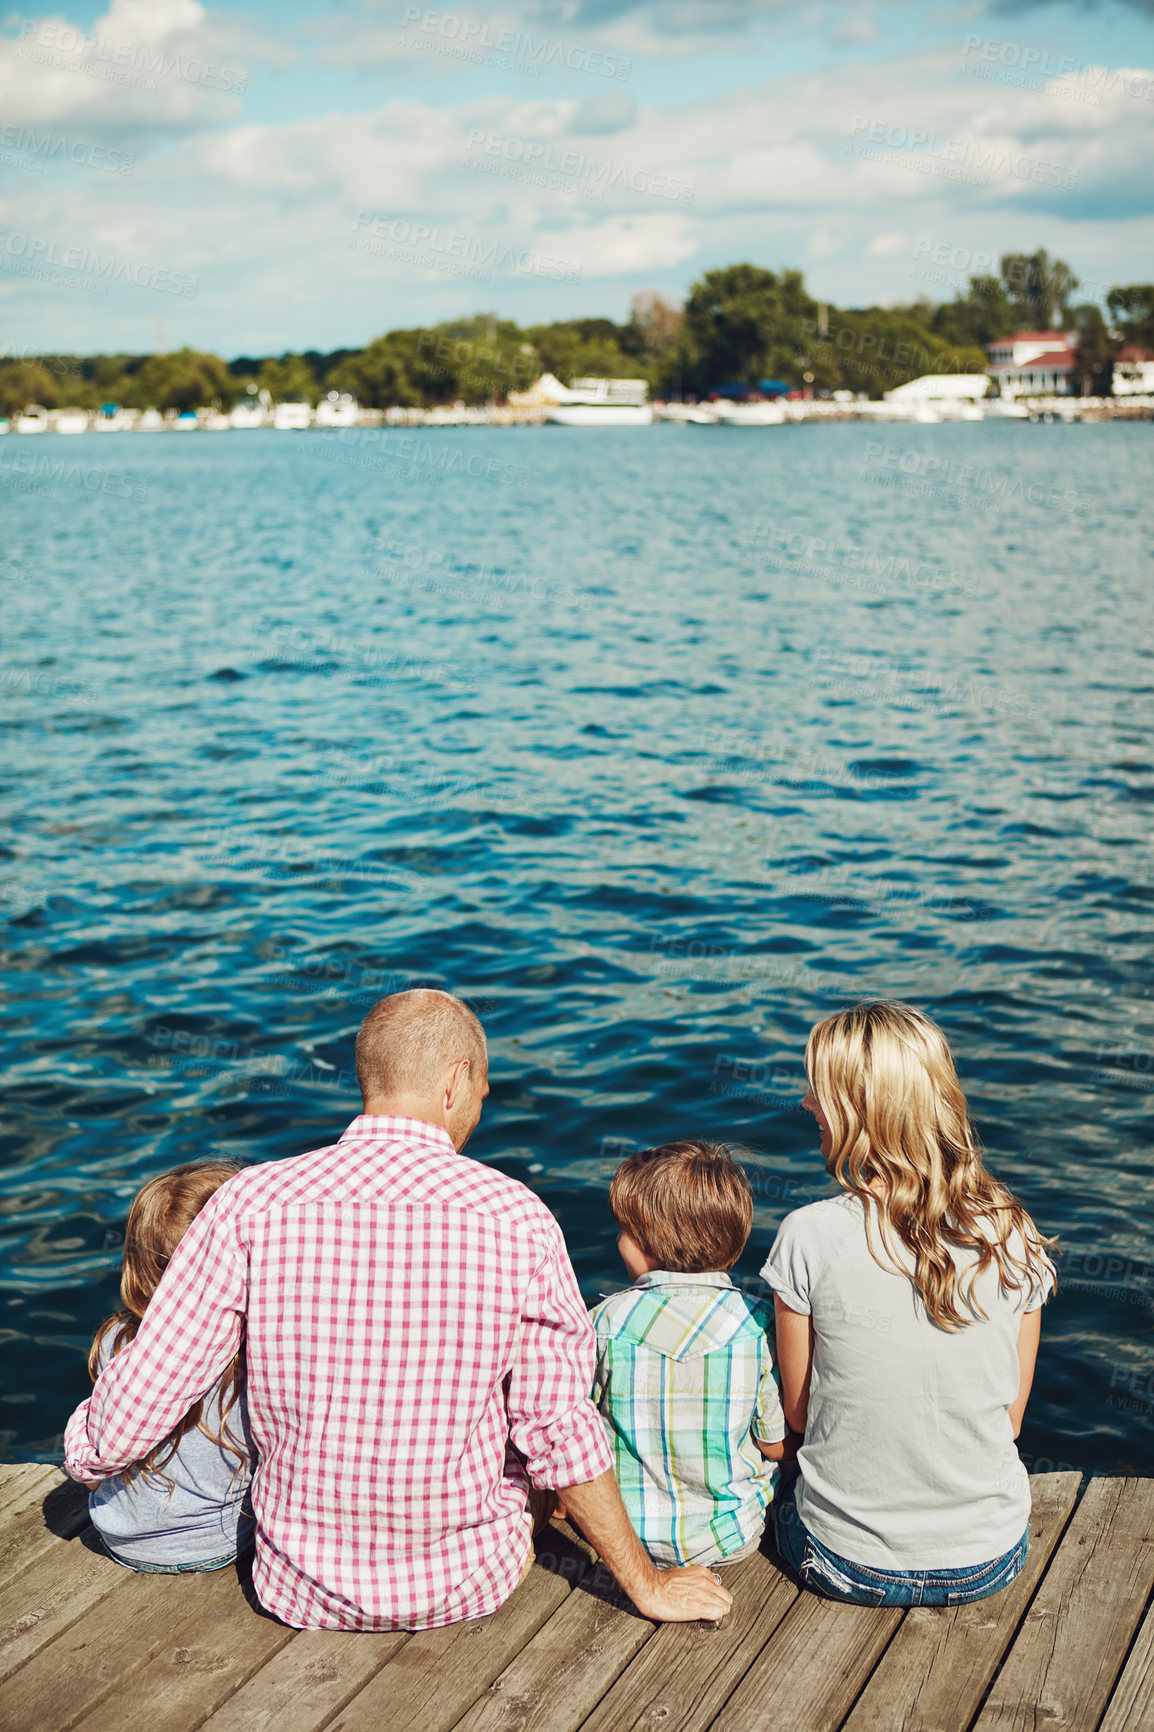
[[[986,1171],[936,1022],[887,1001],[842,1010],[811,1031],[806,1074],[830,1126],[830,1178],[866,1202],[873,1259],[910,1275],[939,1328],[984,1316],[974,1283],[991,1264],[1019,1292],[1041,1276],[1054,1240]],[[870,1197],[887,1261],[873,1244]],[[953,1249],[977,1252],[962,1278]]]

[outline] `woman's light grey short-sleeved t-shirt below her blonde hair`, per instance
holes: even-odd
[[[958,1270],[974,1261],[955,1254]],[[1029,1522],[1008,1413],[1017,1335],[1052,1266],[1019,1292],[986,1270],[974,1289],[986,1320],[937,1328],[911,1280],[870,1254],[863,1200],[842,1193],[785,1218],[762,1276],[813,1316],[797,1514],[814,1540],[877,1569],[960,1569],[1017,1545]]]

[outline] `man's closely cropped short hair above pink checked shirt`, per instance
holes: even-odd
[[[483,1079],[485,1031],[452,992],[393,992],[376,1001],[357,1032],[357,1082],[366,1102],[430,1096],[461,1058],[468,1058],[473,1081]]]

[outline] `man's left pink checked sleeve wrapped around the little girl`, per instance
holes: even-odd
[[[73,1479],[120,1474],[168,1436],[236,1354],[246,1299],[248,1259],[222,1188],[177,1245],[135,1341],[69,1419]]]

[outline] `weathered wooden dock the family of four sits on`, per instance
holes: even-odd
[[[993,1600],[875,1611],[729,1571],[721,1625],[639,1618],[548,1528],[494,1616],[295,1632],[236,1569],[135,1576],[59,1469],[0,1467],[3,1732],[1133,1732],[1154,1729],[1154,1481],[1033,1479],[1029,1562]]]

